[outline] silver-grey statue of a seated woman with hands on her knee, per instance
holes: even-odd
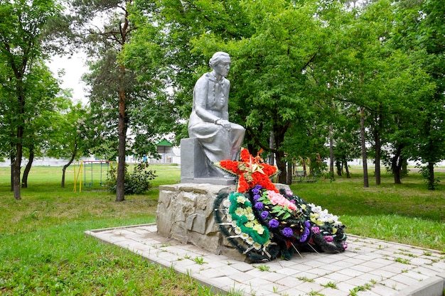
[[[244,139],[245,128],[229,122],[230,56],[218,52],[209,62],[212,72],[205,73],[193,89],[193,108],[188,122],[188,135],[198,138],[208,158],[208,177],[228,177],[211,163],[235,160]]]

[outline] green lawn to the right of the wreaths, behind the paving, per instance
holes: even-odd
[[[427,190],[422,177],[410,172],[395,185],[383,175],[381,185],[363,187],[363,175],[336,177],[334,182],[297,183],[291,189],[300,197],[341,216],[346,232],[375,239],[407,243],[445,252],[445,186]],[[444,172],[436,177],[445,179]]]

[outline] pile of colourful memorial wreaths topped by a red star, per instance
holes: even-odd
[[[239,180],[237,192],[215,200],[215,209],[223,212],[215,219],[230,242],[250,259],[269,261],[280,253],[289,259],[301,250],[340,253],[347,248],[345,226],[338,216],[289,189],[277,190],[269,180],[277,173],[276,167],[261,163],[247,149],[242,150],[239,162],[223,160],[217,166],[235,173]]]

